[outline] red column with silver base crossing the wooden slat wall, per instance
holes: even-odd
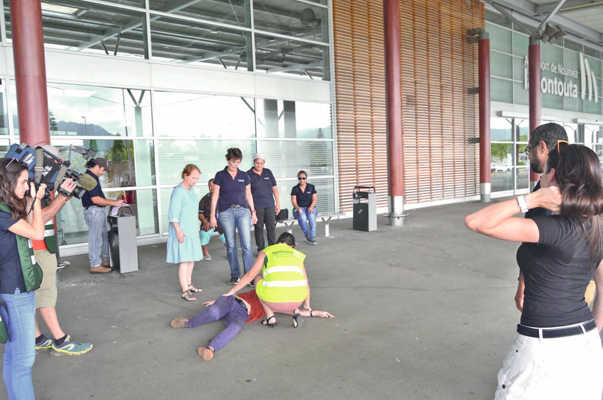
[[[402,226],[404,177],[402,166],[402,105],[400,82],[400,10],[398,0],[384,0],[385,102],[390,226]]]

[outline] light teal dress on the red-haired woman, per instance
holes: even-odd
[[[192,189],[186,190],[178,185],[172,191],[168,209],[168,248],[166,262],[181,263],[198,261],[203,257],[199,240],[199,215],[197,196]],[[180,224],[185,233],[184,243],[178,242],[176,230],[172,222]]]

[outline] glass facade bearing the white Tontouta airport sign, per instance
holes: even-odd
[[[486,21],[490,33],[491,101],[525,106],[525,111],[515,107],[501,112],[497,108],[504,106],[491,105],[494,114],[510,115],[490,119],[491,189],[499,195],[525,193],[529,190],[525,154],[529,120],[513,114],[528,115],[528,35],[514,30],[510,20],[489,10]],[[541,43],[542,123],[559,123],[566,129],[570,143],[592,147],[603,160],[603,126],[586,122],[602,119],[602,64],[601,52],[572,40]],[[546,121],[545,115],[557,119]]]

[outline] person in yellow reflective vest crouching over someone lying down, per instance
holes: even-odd
[[[282,233],[276,242],[260,251],[249,272],[224,296],[232,296],[256,280],[257,297],[266,313],[262,324],[275,327],[274,313],[277,312],[291,314],[293,327],[297,328],[303,325],[299,310],[301,304],[304,310],[310,309],[310,287],[303,263],[306,255],[295,250],[295,237],[291,233]],[[260,271],[262,277],[257,276]]]

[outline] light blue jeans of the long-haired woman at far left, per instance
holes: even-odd
[[[31,367],[36,359],[36,296],[34,292],[0,294],[8,309],[0,307],[2,320],[7,323],[10,339],[4,345],[2,374],[8,392],[8,400],[34,400]],[[8,317],[8,318],[7,318]]]

